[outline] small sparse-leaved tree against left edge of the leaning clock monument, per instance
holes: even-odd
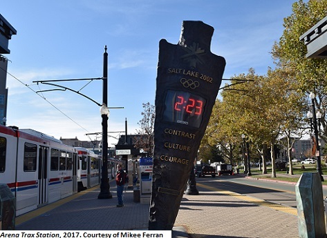
[[[139,137],[136,137],[135,147],[140,148],[147,153],[149,157],[153,157],[153,148],[154,148],[154,120],[156,118],[156,108],[155,106],[148,103],[142,103],[144,109],[141,112],[143,118],[138,122],[140,130],[138,132]]]

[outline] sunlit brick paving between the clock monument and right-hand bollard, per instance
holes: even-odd
[[[296,215],[251,197],[206,190],[199,183],[197,188],[200,195],[183,197],[175,223],[187,226],[194,238],[299,237]]]

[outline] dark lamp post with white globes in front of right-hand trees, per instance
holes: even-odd
[[[317,172],[319,172],[321,181],[324,181],[324,177],[322,177],[322,170],[321,170],[321,158],[320,158],[320,146],[319,146],[319,141],[318,141],[318,126],[320,129],[320,119],[321,119],[321,112],[316,113],[316,108],[315,108],[315,94],[313,92],[310,92],[309,95],[311,102],[312,102],[312,112],[308,111],[307,117],[310,119],[310,126],[312,129],[313,126],[313,132],[315,133],[315,145],[316,145],[316,152],[315,156],[317,157]],[[317,121],[318,119],[318,121]]]

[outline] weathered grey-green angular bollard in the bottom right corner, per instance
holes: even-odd
[[[299,237],[325,238],[324,201],[318,172],[303,172],[295,186]]]

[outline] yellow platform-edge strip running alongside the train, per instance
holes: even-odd
[[[69,197],[66,197],[64,199],[60,199],[59,201],[55,201],[52,204],[47,204],[46,206],[42,206],[40,208],[37,208],[37,210],[32,210],[31,212],[28,212],[24,215],[20,215],[19,217],[16,217],[16,226],[19,224],[24,223],[25,221],[28,221],[30,219],[32,219],[33,217],[37,217],[39,215],[42,215],[46,212],[48,212],[49,210],[53,210],[54,208],[57,208],[58,206],[61,206],[62,204],[65,204],[68,201],[71,201],[77,197],[80,197],[82,195],[84,195],[86,192],[91,192],[97,188],[99,188],[100,185],[97,185],[93,188],[88,188],[87,190],[84,190],[82,192],[77,192],[74,195],[71,195]]]

